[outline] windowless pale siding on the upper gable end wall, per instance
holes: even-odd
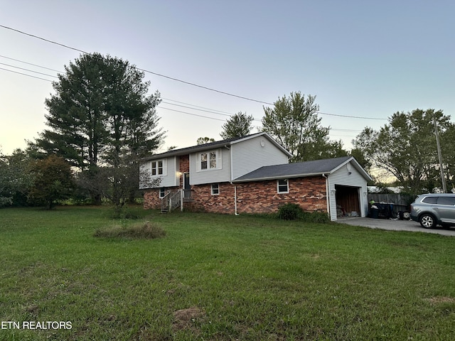
[[[261,141],[264,146],[261,145]],[[232,180],[262,166],[288,163],[288,156],[264,136],[231,145]]]

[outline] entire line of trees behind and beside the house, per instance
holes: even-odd
[[[158,151],[166,132],[159,127],[159,92],[128,61],[99,53],[81,55],[53,82],[45,99],[46,129],[27,141],[26,150],[0,153],[0,207],[44,205],[58,200],[100,204],[120,210],[139,188],[139,158]],[[367,170],[382,169],[412,194],[439,187],[434,139],[437,122],[449,188],[454,183],[455,126],[441,110],[415,109],[392,114],[378,131],[369,127],[350,151],[328,137],[316,96],[291,92],[264,107],[262,131],[291,152],[291,162],[354,156]],[[251,134],[254,118],[238,112],[222,126],[220,137]],[[201,137],[198,144],[215,141]],[[171,147],[173,148],[173,147]]]

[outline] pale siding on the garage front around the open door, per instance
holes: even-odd
[[[330,201],[330,217],[331,220],[337,220],[336,217],[336,198],[333,194],[335,191],[335,185],[344,185],[359,188],[359,205],[360,205],[360,216],[365,217],[368,212],[368,196],[367,193],[367,180],[361,175],[353,166],[350,169],[350,174],[346,165],[341,166],[338,170],[328,175],[328,195]]]

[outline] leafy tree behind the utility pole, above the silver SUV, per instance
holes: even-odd
[[[437,119],[446,160],[454,156],[454,124],[441,110],[396,112],[378,131],[366,127],[353,145],[371,165],[387,171],[416,195],[441,186],[433,119]],[[446,165],[447,166],[447,165]]]

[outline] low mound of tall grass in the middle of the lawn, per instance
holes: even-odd
[[[114,225],[105,229],[97,229],[94,236],[105,238],[156,239],[166,236],[166,231],[159,224],[139,222],[128,227]]]

